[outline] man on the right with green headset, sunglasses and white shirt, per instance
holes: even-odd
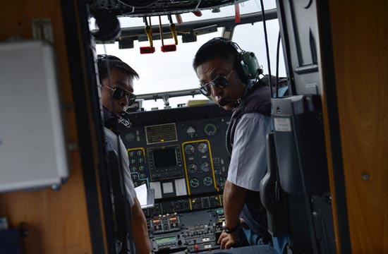
[[[231,162],[224,186],[225,225],[218,243],[222,249],[234,246],[241,223],[255,233],[245,234],[250,244],[267,243],[271,237],[259,191],[260,180],[267,171],[265,137],[271,126],[269,87],[258,79],[261,69],[254,54],[242,51],[236,43],[222,37],[198,49],[193,67],[200,79],[202,94],[233,111],[226,133]],[[252,68],[255,70],[251,71]]]

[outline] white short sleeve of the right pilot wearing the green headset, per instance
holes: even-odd
[[[241,116],[234,133],[228,181],[250,191],[260,191],[260,181],[267,171],[265,138],[271,119],[260,113]]]

